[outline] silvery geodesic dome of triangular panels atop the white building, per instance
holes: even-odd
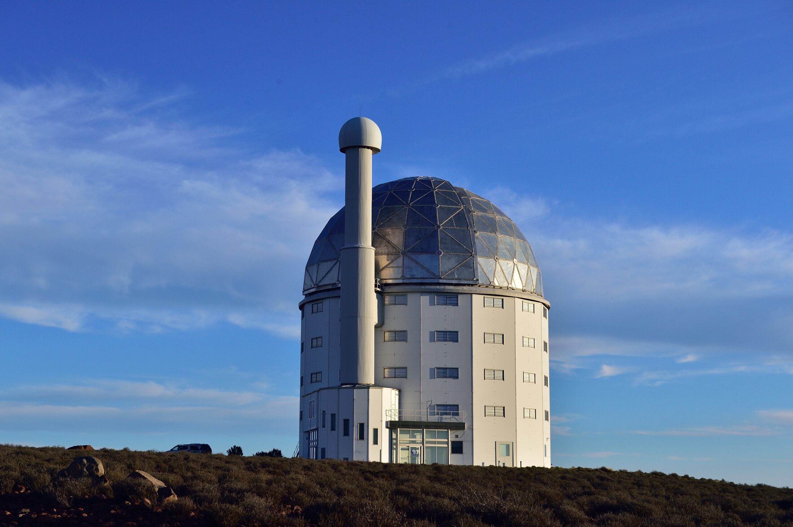
[[[542,296],[531,245],[500,208],[435,177],[408,177],[372,191],[375,277],[382,284],[439,283],[523,290]],[[344,209],[316,239],[303,294],[339,286]]]

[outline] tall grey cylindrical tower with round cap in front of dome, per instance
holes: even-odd
[[[343,385],[374,385],[374,247],[372,247],[372,155],[380,151],[380,128],[354,117],[339,131],[346,159],[344,246],[341,248],[341,378]]]

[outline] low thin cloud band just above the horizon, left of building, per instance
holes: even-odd
[[[297,396],[266,392],[94,380],[6,389],[0,392],[0,423],[4,432],[151,433],[163,427],[178,432],[221,426],[250,431],[287,426],[297,415],[297,406]]]

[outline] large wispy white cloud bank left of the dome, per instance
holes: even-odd
[[[123,83],[0,84],[0,316],[82,331],[227,321],[296,338],[340,178],[251,157]]]

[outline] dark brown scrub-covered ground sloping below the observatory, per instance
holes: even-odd
[[[79,489],[82,498],[64,503],[69,499],[53,492],[52,476],[80,455],[98,457],[111,483],[100,490]],[[109,449],[82,453],[10,445],[0,445],[0,514],[4,514],[2,498],[13,495],[17,485],[28,489],[29,499],[52,505],[53,510],[76,510],[79,505],[90,511],[102,505],[123,512],[113,504],[144,497],[145,489],[124,482],[136,469],[163,480],[180,497],[178,505],[155,517],[141,517],[138,525],[178,525],[182,518],[182,525],[793,527],[791,489],[660,472],[397,465]],[[6,518],[17,518],[16,511],[10,512]],[[187,516],[190,512],[193,516]],[[3,521],[0,518],[0,524]],[[90,518],[84,522],[90,524]],[[20,521],[20,525],[25,524]]]

